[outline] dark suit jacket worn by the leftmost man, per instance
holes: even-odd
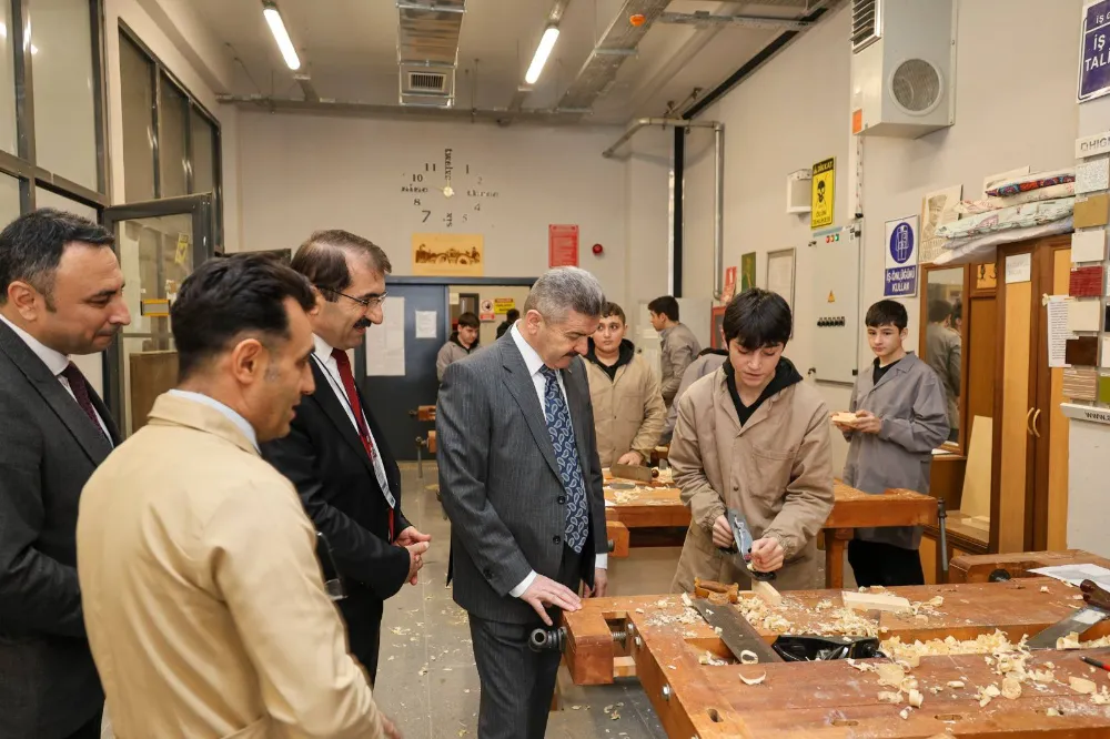
[[[81,610],[77,514],[112,445],[2,322],[0,418],[0,737],[61,739],[104,702]]]

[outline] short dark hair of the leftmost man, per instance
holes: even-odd
[[[47,298],[51,293],[62,252],[72,243],[112,246],[112,232],[88,219],[52,207],[24,213],[0,232],[0,305],[8,302],[11,283],[26,282]]]

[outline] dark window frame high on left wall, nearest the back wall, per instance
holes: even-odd
[[[27,0],[22,0],[27,1]],[[120,43],[131,43],[150,63],[150,82],[153,85],[153,100],[154,104],[151,110],[152,119],[152,130],[154,131],[154,145],[152,148],[154,156],[154,200],[162,200],[164,195],[162,194],[162,152],[161,152],[161,141],[162,141],[162,123],[163,123],[163,110],[162,110],[162,82],[164,81],[172,84],[179,93],[185,98],[185,110],[186,117],[184,121],[184,140],[185,140],[185,191],[188,195],[198,194],[193,192],[194,179],[194,161],[193,161],[193,132],[192,132],[192,117],[194,114],[200,115],[209,125],[212,126],[215,135],[213,138],[213,151],[212,151],[212,215],[213,215],[213,237],[215,244],[223,244],[223,131],[220,126],[220,121],[215,115],[209,111],[198,99],[190,92],[189,88],[176,77],[162,60],[158,58],[150,47],[143,43],[142,39],[134,32],[123,21],[120,19],[119,22],[119,36]],[[122,84],[122,77],[121,77]],[[124,176],[127,174],[124,173]],[[121,204],[129,204],[125,201],[121,201]]]

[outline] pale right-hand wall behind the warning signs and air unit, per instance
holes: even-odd
[[[865,139],[861,308],[882,297],[884,221],[919,213],[931,190],[962,184],[979,196],[983,176],[1029,164],[1035,170],[1070,165],[1078,118],[1074,103],[1081,0],[962,0],[957,36],[956,125],[916,141]],[[789,172],[836,156],[836,225],[851,217],[848,4],[808,31],[743,82],[703,118],[726,126],[725,264],[758,252],[758,284],[766,253],[797,249],[795,338],[787,355],[803,373],[813,366],[818,294],[809,219],[785,213]],[[999,19],[1005,19],[1001,32]],[[1036,60],[1029,49],[1039,53]],[[1104,126],[1110,128],[1110,125]],[[709,134],[692,136],[694,161],[686,173],[686,295],[712,288],[713,158]],[[907,348],[917,348],[918,298]],[[860,330],[862,331],[862,330]],[[860,341],[860,361],[869,361]],[[821,385],[834,408],[849,389]],[[836,435],[834,435],[836,436]],[[846,447],[835,438],[837,465]]]

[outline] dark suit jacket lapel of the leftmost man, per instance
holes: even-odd
[[[47,405],[65,424],[70,434],[81,445],[81,448],[93,465],[99,465],[111,454],[112,445],[104,438],[103,432],[93,425],[89,416],[84,415],[84,412],[77,404],[77,401],[73,399],[73,396],[62,387],[58,378],[42,363],[42,360],[31,351],[31,347],[3,322],[0,322],[0,352],[11,360],[16,370],[27,378],[39,395],[42,396],[42,399],[47,402]],[[97,396],[91,388],[89,394],[92,397]],[[114,428],[114,424],[111,423],[111,416],[108,415],[107,409],[101,409],[103,408],[103,404],[99,403],[99,399],[93,401],[97,405],[97,411],[100,413],[101,418],[104,419],[104,425],[109,429],[112,429]]]

